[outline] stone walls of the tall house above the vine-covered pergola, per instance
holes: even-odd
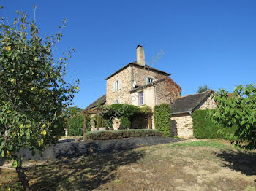
[[[146,77],[154,79],[155,81],[159,79],[163,80],[156,85],[151,85],[143,90],[130,93],[130,90],[134,89],[132,83],[135,81],[136,87],[142,87],[146,85]],[[120,90],[113,88],[114,83],[118,80],[120,80],[121,83]],[[130,64],[107,79],[106,104],[119,103],[140,106],[139,93],[141,91],[143,91],[144,101],[142,106],[150,106],[153,111],[155,105],[164,103],[170,104],[170,99],[175,100],[178,98],[181,93],[181,87],[179,87],[173,79],[170,79],[167,73],[154,71],[148,69],[148,67],[138,66],[136,64]],[[154,116],[152,117],[152,120],[153,119]],[[154,129],[154,121],[152,121],[152,128]]]

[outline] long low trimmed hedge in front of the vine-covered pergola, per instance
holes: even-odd
[[[108,140],[108,139],[122,139],[129,137],[140,136],[162,136],[159,130],[153,129],[128,129],[128,130],[104,130],[104,131],[91,131],[86,132],[87,141],[92,140]]]

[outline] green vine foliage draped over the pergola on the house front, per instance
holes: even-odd
[[[121,126],[129,129],[131,126],[132,117],[135,114],[150,114],[149,106],[134,106],[129,104],[112,104],[102,108],[102,117],[105,120],[105,126],[112,126],[115,118],[120,118]]]

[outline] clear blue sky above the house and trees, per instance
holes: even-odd
[[[81,108],[105,94],[105,77],[136,60],[138,44],[146,61],[165,52],[154,67],[170,73],[182,95],[205,84],[232,91],[256,82],[255,0],[1,0],[0,17],[12,20],[16,10],[34,17],[34,4],[46,34],[68,20],[55,54],[76,48],[67,80],[80,79],[75,105]]]

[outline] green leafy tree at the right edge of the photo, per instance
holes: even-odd
[[[230,95],[226,90],[219,90],[214,95],[217,109],[213,109],[211,119],[223,127],[237,127],[233,134],[238,147],[256,148],[256,85],[237,86]]]

